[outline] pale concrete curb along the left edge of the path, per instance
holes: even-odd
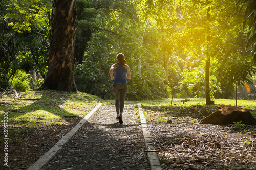
[[[63,136],[45,155],[41,156],[32,166],[28,168],[28,170],[39,170],[44,167],[58,152],[58,150],[65,144],[77,130],[84,124],[86,121],[96,112],[96,110],[102,105],[102,103],[98,104],[90,113],[88,113],[81,121],[76,124],[76,126],[71,129],[65,136]]]

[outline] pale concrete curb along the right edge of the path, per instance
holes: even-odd
[[[151,138],[151,135],[150,135],[150,131],[148,131],[148,129],[147,129],[146,119],[145,119],[145,116],[143,114],[141,104],[138,103],[137,105],[138,105],[138,108],[139,108],[141,127],[142,127],[142,131],[143,131],[146,147],[148,149],[153,149],[154,147],[152,145],[152,138]],[[151,170],[161,170],[162,169],[156,152],[147,152],[147,160],[150,163],[150,169]]]

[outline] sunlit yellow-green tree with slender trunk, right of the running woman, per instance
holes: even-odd
[[[219,59],[223,52],[221,44],[225,43],[230,35],[238,36],[242,28],[236,1],[142,0],[139,7],[142,19],[151,17],[155,20],[165,20],[165,33],[168,37],[165,44],[169,48],[187,56],[206,58],[205,92],[206,103],[210,104],[210,60]]]

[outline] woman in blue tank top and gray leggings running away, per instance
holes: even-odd
[[[110,67],[110,79],[113,80],[113,71],[115,74],[114,82],[113,82],[113,92],[116,98],[116,119],[119,120],[119,123],[122,124],[122,113],[124,108],[124,99],[128,90],[127,79],[131,79],[131,72],[129,66],[126,64],[126,60],[124,59],[124,55],[119,53],[116,56],[117,63],[113,64]]]

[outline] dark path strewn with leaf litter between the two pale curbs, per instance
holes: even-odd
[[[115,106],[102,105],[43,169],[150,169],[133,107],[119,124]]]

